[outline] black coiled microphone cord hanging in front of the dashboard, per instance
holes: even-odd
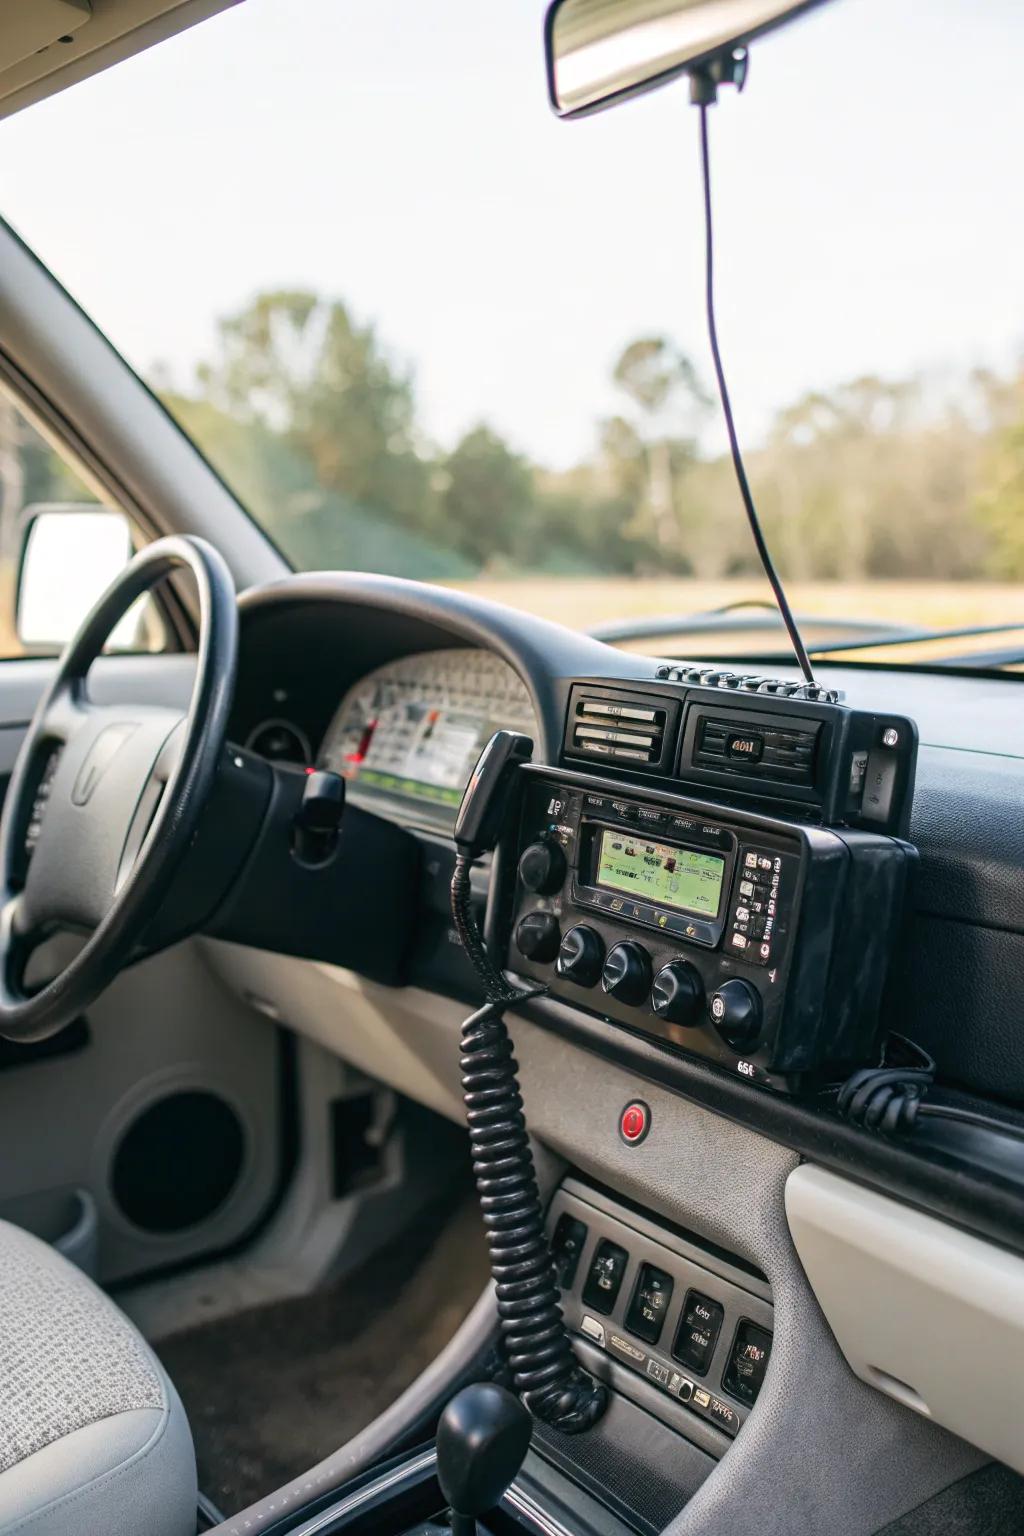
[[[516,1392],[534,1418],[577,1435],[605,1412],[608,1393],[579,1366],[554,1263],[543,1235],[540,1190],[527,1135],[505,1009],[543,988],[517,991],[491,963],[473,919],[471,860],[456,857],[451,915],[488,1001],[462,1025],[459,1064],[497,1318]]]

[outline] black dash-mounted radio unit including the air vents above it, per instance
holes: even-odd
[[[722,691],[574,685],[562,762],[522,770],[499,942],[553,998],[795,1092],[877,1052],[915,733]]]

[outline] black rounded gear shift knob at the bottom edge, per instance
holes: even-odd
[[[438,1424],[438,1482],[451,1505],[451,1536],[476,1536],[522,1467],[533,1421],[519,1398],[490,1381],[457,1392]]]

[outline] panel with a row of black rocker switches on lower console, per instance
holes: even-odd
[[[774,1313],[765,1276],[576,1178],[556,1192],[548,1232],[583,1362],[722,1456],[768,1370]]]

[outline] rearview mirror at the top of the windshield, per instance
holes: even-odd
[[[823,0],[554,0],[548,92],[583,117],[709,65]]]

